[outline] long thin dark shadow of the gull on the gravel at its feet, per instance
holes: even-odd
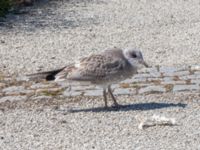
[[[157,103],[157,102],[150,102],[150,103],[138,103],[138,104],[128,104],[128,105],[120,105],[119,108],[114,107],[96,107],[96,108],[87,108],[87,109],[71,109],[69,110],[70,113],[78,113],[78,112],[110,112],[110,111],[134,111],[134,110],[153,110],[153,109],[162,109],[167,107],[180,107],[185,108],[187,104],[184,103]]]

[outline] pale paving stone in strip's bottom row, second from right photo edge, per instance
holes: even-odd
[[[139,94],[144,93],[164,93],[166,92],[166,89],[163,86],[148,86],[145,88],[141,88],[139,90]]]

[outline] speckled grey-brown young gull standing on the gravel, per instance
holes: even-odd
[[[32,74],[32,77],[46,80],[69,80],[90,82],[103,88],[105,107],[107,89],[114,106],[118,107],[111,85],[132,77],[141,66],[148,67],[142,53],[135,49],[108,49],[99,54],[92,54],[58,70]]]

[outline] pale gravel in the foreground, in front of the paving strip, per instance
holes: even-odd
[[[120,96],[127,107],[105,111],[101,98],[16,104],[0,111],[0,148],[7,149],[200,149],[198,94]],[[8,104],[7,104],[8,106]],[[18,106],[18,107],[17,107]],[[55,107],[58,106],[58,107]],[[73,111],[72,111],[73,110]],[[139,130],[137,117],[173,117],[176,126]]]

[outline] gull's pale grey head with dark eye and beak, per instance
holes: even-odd
[[[148,67],[147,63],[143,59],[141,51],[135,49],[124,49],[123,54],[133,68],[140,68],[141,66]]]

